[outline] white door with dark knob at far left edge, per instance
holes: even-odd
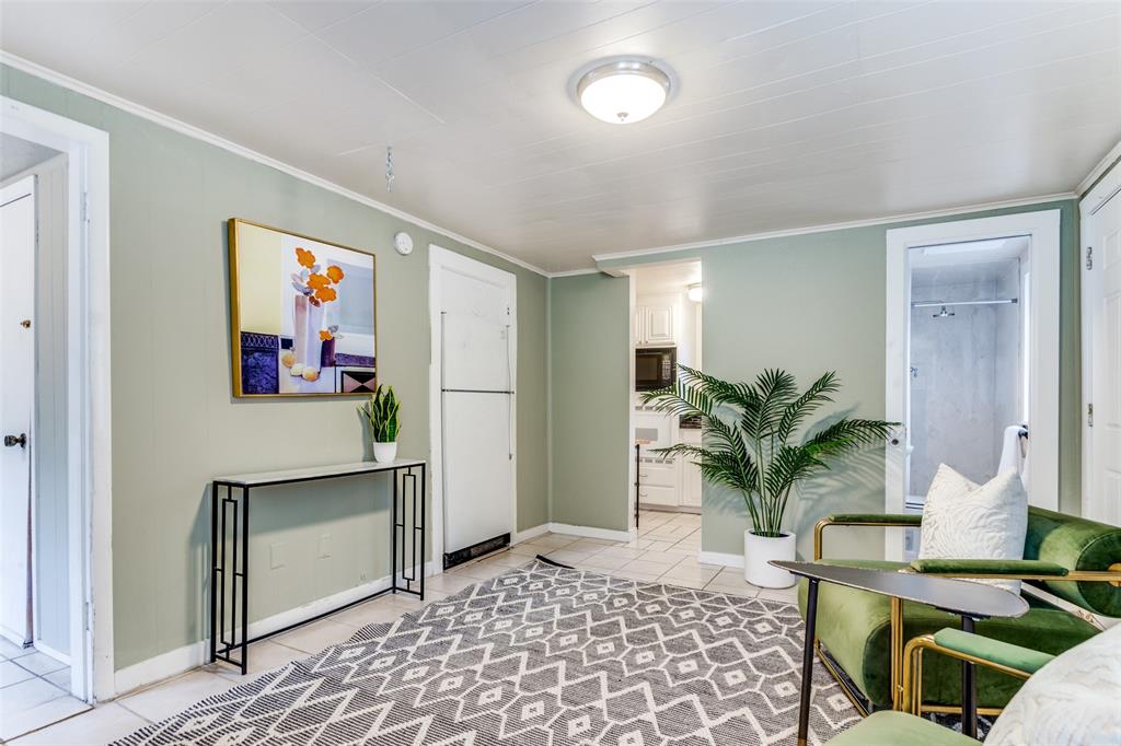
[[[30,642],[29,531],[35,402],[35,178],[0,190],[0,634]],[[16,440],[12,440],[15,438]]]

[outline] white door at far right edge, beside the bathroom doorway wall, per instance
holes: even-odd
[[[1090,458],[1083,513],[1121,525],[1121,194],[1090,216],[1085,232],[1083,364],[1090,370],[1084,394]]]

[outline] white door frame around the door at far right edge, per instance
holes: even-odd
[[[1078,211],[1082,217],[1082,236],[1080,239],[1082,253],[1078,265],[1081,289],[1082,289],[1082,515],[1095,515],[1093,505],[1094,491],[1091,485],[1094,478],[1094,429],[1090,427],[1090,404],[1094,394],[1094,339],[1093,339],[1093,310],[1102,291],[1101,272],[1093,274],[1090,269],[1090,249],[1093,235],[1087,231],[1091,217],[1111,198],[1121,199],[1121,166],[1113,168],[1105,174],[1093,189],[1087,192],[1078,203]],[[1100,261],[1100,255],[1094,255],[1093,260]]]

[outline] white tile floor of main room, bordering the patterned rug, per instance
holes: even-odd
[[[613,542],[547,533],[510,549],[456,567],[426,580],[425,604],[446,598],[480,580],[488,580],[519,567],[537,554],[557,562],[636,580],[703,588],[740,596],[759,596],[793,603],[794,589],[768,590],[749,585],[743,571],[697,561],[701,516],[686,513],[643,512],[637,541]],[[15,746],[49,744],[84,746],[105,744],[149,722],[161,720],[191,707],[204,697],[221,693],[252,680],[265,671],[317,653],[343,642],[367,624],[393,622],[401,614],[420,608],[416,598],[382,596],[333,614],[291,632],[256,643],[250,655],[250,675],[241,677],[229,666],[204,666],[112,702],[57,722],[11,742]]]

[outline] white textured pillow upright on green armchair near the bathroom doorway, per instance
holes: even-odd
[[[978,486],[945,464],[923,507],[919,559],[1023,559],[1028,495],[1015,470]],[[1019,580],[978,580],[1012,593]]]

